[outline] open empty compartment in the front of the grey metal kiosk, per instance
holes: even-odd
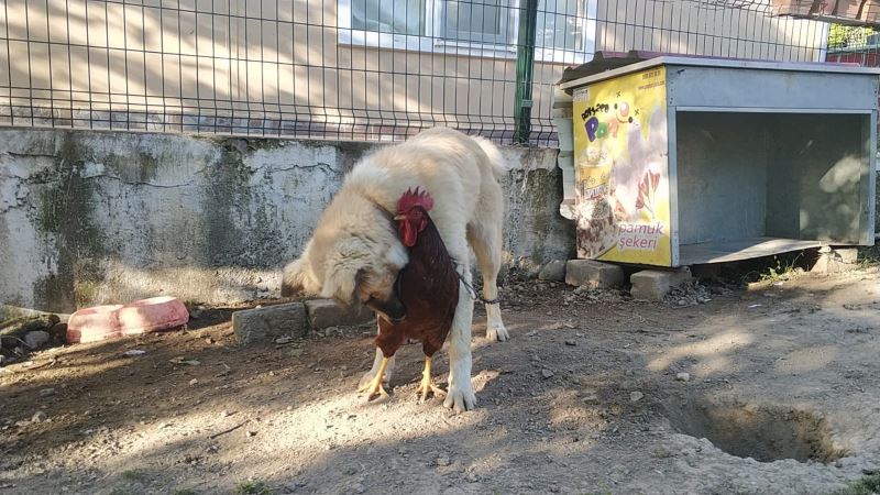
[[[869,117],[676,112],[679,263],[858,244]]]

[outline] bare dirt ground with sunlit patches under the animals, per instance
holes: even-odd
[[[682,307],[503,297],[512,340],[477,312],[461,416],[417,404],[420,345],[365,404],[369,327],[241,348],[215,309],[38,353],[0,369],[0,494],[814,494],[880,468],[876,270]]]

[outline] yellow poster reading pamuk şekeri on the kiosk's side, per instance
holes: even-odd
[[[670,266],[666,69],[573,94],[578,257]]]

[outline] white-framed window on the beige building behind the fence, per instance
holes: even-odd
[[[516,56],[524,0],[339,0],[340,43]],[[596,0],[539,0],[536,58],[580,64],[594,50]]]

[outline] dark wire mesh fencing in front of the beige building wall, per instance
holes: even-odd
[[[825,59],[827,23],[773,13],[769,0],[0,0],[0,124],[334,140],[451,125],[509,142],[530,114],[527,141],[553,144],[552,85],[595,51]]]

